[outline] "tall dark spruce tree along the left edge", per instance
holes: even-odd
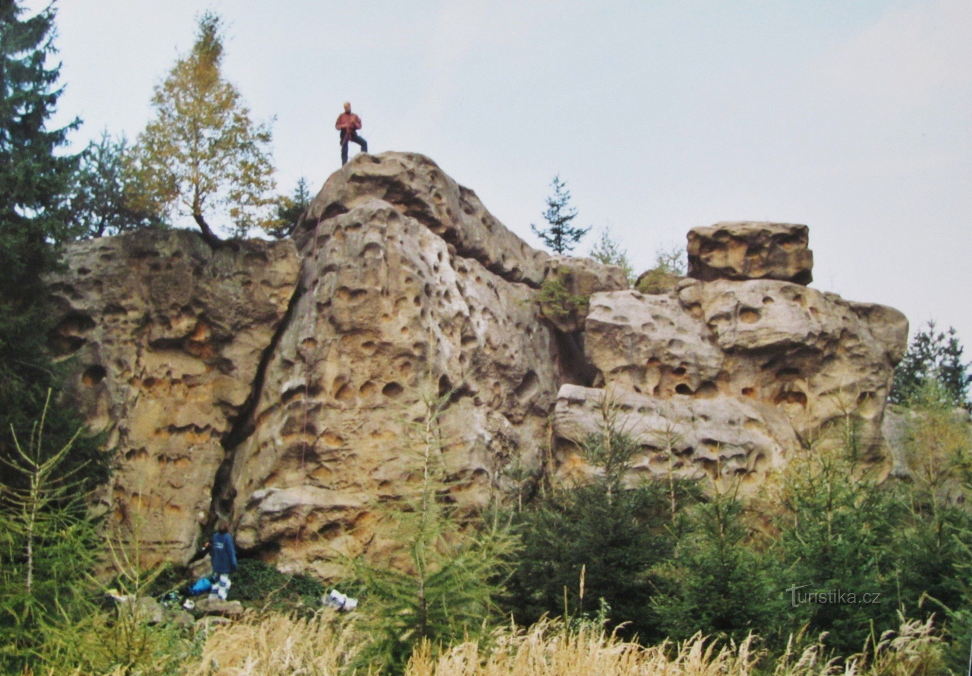
[[[0,0],[0,456],[15,456],[12,428],[29,436],[48,389],[57,389],[58,367],[47,348],[52,313],[44,275],[56,269],[58,244],[76,234],[67,195],[77,156],[58,152],[80,123],[49,129],[61,88],[51,65],[54,13],[24,18],[14,0]],[[63,445],[78,422],[64,406],[52,407],[47,435]],[[65,466],[99,456],[89,439],[76,444]],[[104,476],[94,462],[86,475]],[[0,473],[0,484],[17,482]]]

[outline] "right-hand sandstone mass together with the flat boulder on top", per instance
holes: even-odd
[[[790,253],[809,254],[802,225],[720,223],[696,228],[689,242],[697,255],[700,242],[719,241],[719,233],[730,243],[723,254],[738,243],[762,242],[767,255],[749,269],[761,278],[785,273],[809,279],[809,266],[789,274],[799,267],[791,263],[800,255],[786,262],[782,244],[773,239],[783,233],[784,243],[793,242],[794,231],[802,233],[802,244]],[[726,254],[712,267],[700,267],[697,258],[693,272],[728,274],[732,258]],[[745,269],[737,265],[731,274],[741,276]],[[751,484],[764,470],[780,467],[796,444],[816,439],[847,415],[859,423],[863,455],[884,458],[885,401],[907,338],[908,321],[885,306],[773,279],[686,279],[667,295],[594,294],[584,346],[623,416],[637,410],[642,417],[627,424],[642,443],[643,466],[668,471],[672,461],[685,476],[739,476]],[[605,396],[605,390],[562,388],[554,426],[558,437],[573,441],[598,432],[604,422],[595,414]],[[755,436],[734,436],[740,424]],[[673,433],[678,443],[666,451],[658,440]],[[566,464],[578,464],[572,445],[561,450],[572,458]]]

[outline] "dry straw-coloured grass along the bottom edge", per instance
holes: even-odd
[[[296,620],[271,614],[217,627],[186,676],[338,676],[353,659],[353,624],[333,615]],[[416,651],[405,676],[750,676],[766,659],[749,639],[717,647],[701,636],[681,644],[644,648],[602,631],[569,631],[556,622],[505,629],[489,649],[466,642],[436,654]],[[939,639],[928,623],[903,621],[897,632],[869,641],[846,660],[820,643],[790,650],[773,676],[929,676],[941,671]],[[360,674],[361,672],[359,672]]]

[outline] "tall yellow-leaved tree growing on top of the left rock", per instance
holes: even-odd
[[[222,19],[198,19],[192,50],[156,85],[155,118],[139,136],[140,177],[159,212],[191,216],[211,245],[220,240],[208,219],[223,214],[244,236],[273,226],[274,167],[268,124],[255,123],[223,77]]]

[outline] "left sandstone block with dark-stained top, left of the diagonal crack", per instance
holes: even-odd
[[[66,259],[53,344],[74,356],[87,423],[119,450],[115,517],[149,558],[185,560],[294,292],[294,243],[213,252],[188,231],[146,230],[72,244]]]

